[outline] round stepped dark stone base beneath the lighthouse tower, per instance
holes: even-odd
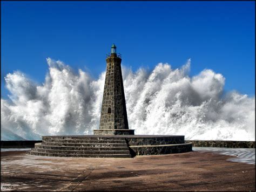
[[[58,157],[134,157],[192,151],[184,136],[85,135],[43,136],[28,154]]]

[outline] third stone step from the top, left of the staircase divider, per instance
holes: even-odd
[[[59,143],[43,142],[44,146],[62,146],[62,147],[127,147],[126,143]]]

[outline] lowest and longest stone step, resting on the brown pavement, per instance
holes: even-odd
[[[27,152],[29,155],[39,156],[56,156],[56,157],[109,157],[109,158],[131,158],[131,154],[60,154],[60,153],[43,153],[43,152]]]

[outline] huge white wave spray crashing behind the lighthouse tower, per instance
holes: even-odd
[[[42,135],[84,135],[99,128],[105,72],[93,80],[62,61],[47,59],[49,73],[37,85],[22,72],[5,77],[10,101],[1,99],[1,139],[40,140]],[[123,67],[129,128],[136,134],[185,135],[187,140],[255,137],[255,97],[229,92],[212,70],[190,77],[159,63],[152,72]]]

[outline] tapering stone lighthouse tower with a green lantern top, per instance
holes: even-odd
[[[111,54],[106,58],[102,112],[99,129],[93,131],[95,135],[134,135],[134,130],[128,127],[121,70],[122,59],[117,56],[116,49],[113,44]]]

